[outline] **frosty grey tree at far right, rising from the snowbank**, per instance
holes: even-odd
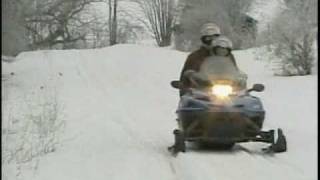
[[[276,75],[308,75],[317,36],[317,0],[285,1],[285,9],[269,29],[270,51],[281,60]]]

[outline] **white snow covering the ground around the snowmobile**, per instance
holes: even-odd
[[[172,157],[177,127],[177,79],[186,53],[137,45],[20,54],[3,68],[3,125],[9,109],[21,114],[25,97],[46,94],[63,106],[62,144],[38,167],[7,179],[33,180],[247,180],[317,179],[317,75],[274,77],[254,49],[235,52],[248,85],[263,83],[265,129],[281,127],[288,152],[267,155],[262,143],[231,152],[190,149]],[[2,62],[4,64],[4,62]],[[14,75],[10,76],[10,73]],[[41,88],[42,87],[42,88]],[[50,98],[48,98],[50,100]],[[12,115],[12,114],[11,114]],[[5,177],[5,176],[3,176]]]

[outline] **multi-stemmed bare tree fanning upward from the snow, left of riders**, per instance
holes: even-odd
[[[174,25],[174,0],[134,0],[142,8],[158,46],[169,46]]]

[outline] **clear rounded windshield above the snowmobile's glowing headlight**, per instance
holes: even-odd
[[[221,79],[237,80],[240,72],[229,56],[210,56],[200,66],[199,76],[214,81]]]

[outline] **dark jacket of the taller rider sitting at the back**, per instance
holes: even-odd
[[[191,87],[191,82],[189,79],[183,77],[183,73],[187,70],[194,70],[199,71],[201,64],[205,60],[206,57],[210,56],[210,51],[206,48],[201,46],[200,49],[194,51],[191,53],[182,68],[181,74],[180,74],[180,81],[183,83],[183,86],[185,88]],[[234,63],[234,65],[237,67],[235,58],[232,53],[230,53],[230,59]],[[180,95],[184,94],[184,91],[180,91]]]

